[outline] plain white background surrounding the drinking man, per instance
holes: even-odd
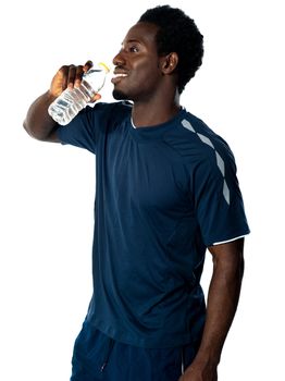
[[[234,150],[251,228],[219,380],[284,380],[282,1],[169,3],[205,35],[203,65],[182,105]],[[1,8],[1,380],[69,380],[91,296],[94,157],[29,138],[22,127],[27,108],[62,64],[110,62],[127,29],[157,4],[16,0]],[[111,85],[101,94],[112,100]],[[208,255],[206,292],[210,270]]]

